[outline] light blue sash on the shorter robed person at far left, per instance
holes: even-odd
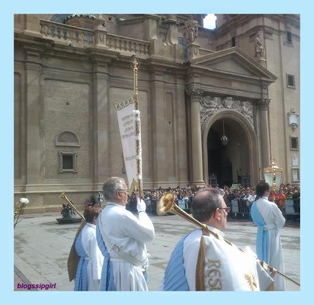
[[[87,279],[87,267],[88,267],[88,255],[86,254],[82,245],[82,232],[79,232],[77,240],[75,241],[75,251],[79,259],[79,265],[77,265],[77,276],[75,277],[75,291],[88,291],[88,279]]]

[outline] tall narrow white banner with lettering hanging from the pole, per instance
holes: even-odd
[[[127,180],[129,188],[132,189],[134,185],[137,186],[138,181],[136,177],[135,119],[133,113],[135,104],[133,97],[122,101],[115,108],[117,110]]]

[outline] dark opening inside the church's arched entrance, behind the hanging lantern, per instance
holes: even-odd
[[[227,145],[220,138],[228,137]],[[207,136],[209,182],[216,180],[220,187],[239,183],[250,186],[250,149],[244,128],[230,117],[215,121]]]

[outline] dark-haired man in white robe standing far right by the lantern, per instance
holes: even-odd
[[[283,261],[283,248],[279,230],[285,225],[285,217],[274,202],[270,202],[270,186],[260,182],[256,188],[257,200],[253,202],[251,217],[257,225],[257,257],[285,273]],[[274,290],[285,291],[285,278],[279,274],[274,275]]]

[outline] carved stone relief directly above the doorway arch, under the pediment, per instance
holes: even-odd
[[[200,101],[200,123],[205,123],[209,115],[214,114],[217,110],[222,108],[234,109],[241,112],[251,125],[254,126],[252,103],[250,101],[235,100],[232,97],[226,97],[224,99],[210,96],[203,97]]]

